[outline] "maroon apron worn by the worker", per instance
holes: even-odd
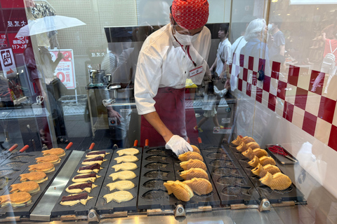
[[[173,89],[163,87],[158,89],[157,96],[153,98],[159,118],[166,127],[180,137],[187,139],[185,125],[185,88]],[[165,146],[166,142],[157,130],[142,116],[140,124],[140,146],[145,145],[149,139],[149,146]]]

